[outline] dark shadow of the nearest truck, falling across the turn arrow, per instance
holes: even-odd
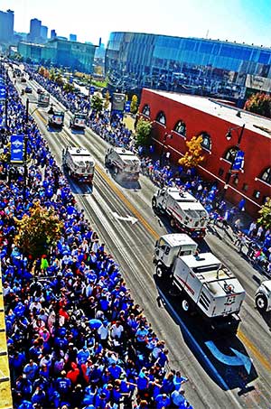
[[[257,378],[257,370],[238,337],[208,330],[199,314],[187,315],[182,311],[180,293],[177,295],[168,281],[162,281],[156,274],[154,281],[159,293],[158,307],[164,307],[170,313],[180,328],[181,339],[208,376],[223,390],[238,388],[240,395],[252,390],[248,384]]]

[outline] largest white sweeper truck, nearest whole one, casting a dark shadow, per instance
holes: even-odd
[[[238,330],[238,312],[245,290],[212,253],[198,254],[186,234],[160,237],[154,248],[156,275],[180,293],[182,311],[198,311],[212,330]]]

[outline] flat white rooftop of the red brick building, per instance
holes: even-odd
[[[156,89],[148,89],[154,94],[161,95],[164,98],[172,99],[180,102],[187,107],[193,107],[211,116],[219,117],[224,121],[236,126],[245,124],[245,129],[249,129],[259,135],[271,138],[271,119],[264,116],[252,114],[238,107],[231,107],[226,103],[215,100],[213,98],[205,98],[187,94],[177,94],[174,92],[160,91]]]

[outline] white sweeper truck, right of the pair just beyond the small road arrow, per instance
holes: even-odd
[[[128,181],[138,181],[140,160],[135,153],[124,148],[110,147],[107,149],[105,165],[115,174],[120,174]]]

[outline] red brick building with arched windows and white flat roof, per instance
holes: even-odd
[[[170,152],[175,163],[187,151],[186,141],[201,135],[204,162],[198,171],[202,178],[217,181],[226,199],[235,204],[245,199],[246,211],[257,216],[266,197],[271,197],[270,119],[211,98],[152,89],[143,89],[139,111],[153,121],[155,146]],[[245,154],[242,170],[233,172],[226,184],[238,150]]]

